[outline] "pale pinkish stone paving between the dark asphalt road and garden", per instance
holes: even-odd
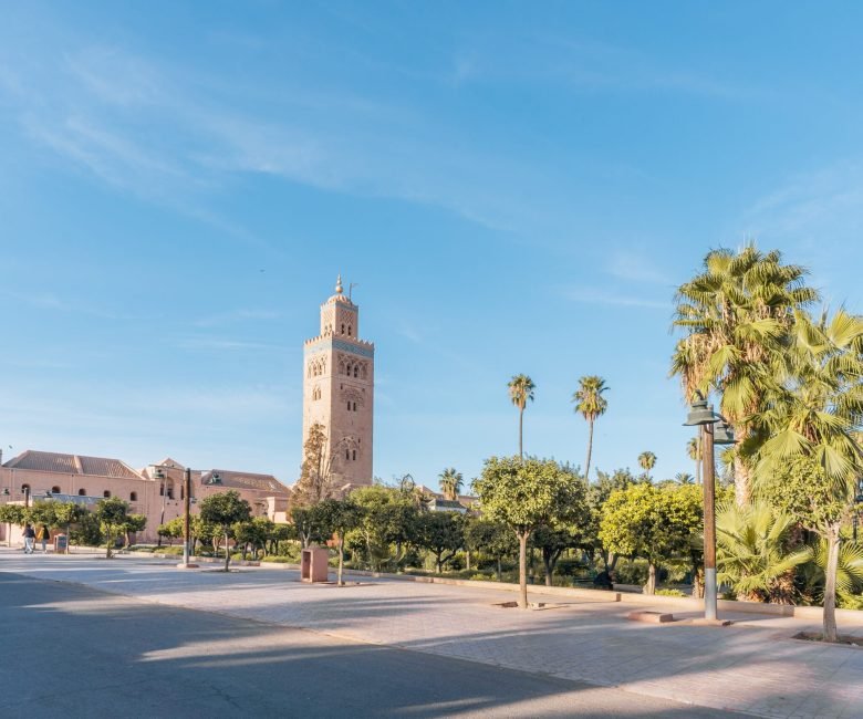
[[[762,717],[863,717],[863,648],[791,639],[817,626],[728,615],[730,627],[625,619],[645,605],[539,596],[545,609],[501,608],[512,593],[362,579],[308,585],[290,570],[180,571],[155,560],[112,562],[0,552],[0,570],[137,598],[302,627],[372,644],[615,686]],[[685,613],[683,613],[685,615]],[[680,613],[675,612],[675,616]],[[694,616],[689,614],[688,616]],[[861,636],[863,624],[841,627]]]

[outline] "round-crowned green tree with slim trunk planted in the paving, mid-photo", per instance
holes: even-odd
[[[528,607],[527,548],[540,527],[566,522],[583,484],[571,470],[550,459],[491,457],[474,481],[484,515],[506,523],[519,541],[519,606]]]

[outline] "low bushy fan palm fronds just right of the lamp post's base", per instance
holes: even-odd
[[[758,501],[727,502],[716,517],[717,579],[741,600],[793,604],[793,570],[812,556],[808,546],[789,549],[791,514]]]

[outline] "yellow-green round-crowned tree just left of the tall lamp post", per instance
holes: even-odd
[[[690,536],[701,529],[697,487],[632,484],[611,493],[603,507],[600,539],[609,551],[647,560],[646,593],[656,593],[656,570],[686,555]]]

